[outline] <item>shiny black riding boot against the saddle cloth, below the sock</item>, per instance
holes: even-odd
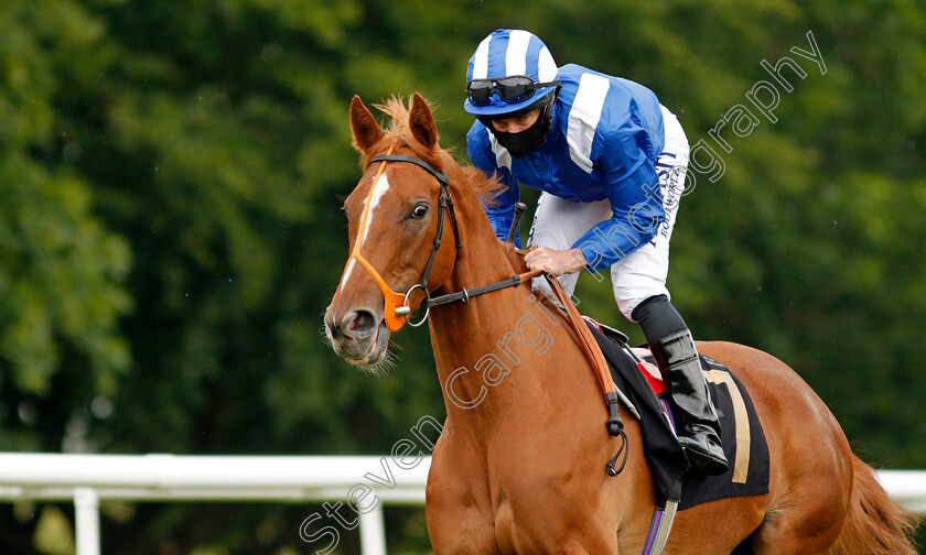
[[[709,476],[725,472],[729,464],[720,444],[720,423],[691,333],[686,329],[672,334],[649,348],[659,370],[668,377],[672,404],[680,413],[676,414],[680,424],[678,443],[691,465]]]

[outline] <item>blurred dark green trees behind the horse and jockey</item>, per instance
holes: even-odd
[[[380,454],[442,417],[427,331],[397,337],[385,378],[320,334],[359,177],[347,108],[420,91],[464,157],[466,62],[505,26],[648,86],[715,150],[708,131],[769,79],[761,61],[800,64],[777,122],[722,131],[725,173],[682,202],[669,286],[698,338],[790,363],[866,461],[926,467],[926,7],[909,0],[4,0],[0,450]],[[825,74],[789,52],[808,31]],[[642,340],[607,282],[578,296]],[[104,548],[308,553],[314,510],[104,503]],[[72,516],[2,504],[0,551],[68,553]],[[387,524],[392,552],[429,552],[423,511]]]

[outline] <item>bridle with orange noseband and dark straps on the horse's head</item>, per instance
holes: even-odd
[[[424,324],[424,320],[428,319],[428,315],[430,314],[432,306],[438,306],[446,303],[452,303],[455,301],[469,302],[470,298],[482,295],[484,293],[489,293],[493,291],[498,291],[505,287],[515,287],[524,283],[525,281],[539,275],[539,270],[534,270],[530,272],[525,272],[523,274],[517,274],[506,280],[502,280],[499,282],[491,283],[488,285],[482,285],[478,287],[473,287],[471,290],[461,289],[456,293],[450,293],[446,295],[441,295],[438,297],[431,297],[431,292],[428,291],[428,279],[431,275],[431,269],[434,265],[434,260],[438,257],[438,251],[441,248],[441,237],[443,236],[443,228],[444,228],[444,218],[445,214],[450,214],[450,224],[453,229],[453,238],[456,242],[456,253],[455,258],[453,259],[453,266],[456,268],[456,261],[460,259],[460,249],[463,248],[463,244],[460,242],[460,230],[456,225],[456,214],[453,210],[453,199],[450,196],[450,181],[446,178],[442,172],[437,171],[431,164],[428,162],[417,157],[417,156],[409,156],[403,154],[392,154],[396,151],[396,142],[392,142],[392,145],[389,148],[389,152],[386,154],[380,154],[377,156],[373,156],[369,160],[370,164],[376,162],[381,162],[379,168],[376,172],[376,175],[373,178],[373,185],[369,187],[369,193],[367,193],[366,199],[366,207],[364,208],[364,214],[360,217],[360,226],[359,230],[363,232],[366,229],[366,220],[369,217],[369,209],[372,199],[373,199],[373,192],[376,188],[376,184],[379,181],[379,177],[383,175],[383,172],[386,170],[386,164],[388,162],[408,162],[410,164],[414,164],[428,173],[430,173],[441,185],[441,193],[438,199],[438,231],[434,236],[434,243],[433,248],[431,249],[431,255],[428,258],[428,264],[424,266],[424,272],[421,274],[421,280],[409,287],[409,290],[405,293],[396,293],[392,291],[391,287],[386,283],[386,280],[373,268],[373,264],[360,254],[360,238],[357,237],[357,241],[354,244],[354,251],[351,253],[351,258],[347,259],[347,265],[351,264],[352,260],[357,260],[367,271],[373,275],[373,279],[376,281],[379,291],[383,293],[383,298],[385,302],[384,307],[384,318],[386,320],[386,327],[389,328],[389,331],[398,331],[401,327],[408,323],[410,326],[418,327]],[[345,269],[347,268],[345,265]],[[451,271],[451,273],[453,273]],[[435,289],[439,289],[440,285]],[[424,315],[418,322],[411,322],[409,319],[409,315],[411,314],[411,307],[408,304],[408,300],[411,293],[420,289],[424,293],[424,300],[421,302],[420,307],[424,308]]]

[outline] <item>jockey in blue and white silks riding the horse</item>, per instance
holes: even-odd
[[[694,340],[666,289],[689,160],[678,119],[642,85],[573,64],[558,68],[527,31],[498,30],[483,40],[466,83],[463,106],[476,118],[467,153],[503,184],[496,205],[485,207],[495,233],[508,235],[518,184],[542,192],[527,266],[560,276],[570,294],[579,270],[599,280],[600,270],[611,270],[618,308],[639,324],[667,378],[689,460],[701,472],[723,474],[717,411]]]

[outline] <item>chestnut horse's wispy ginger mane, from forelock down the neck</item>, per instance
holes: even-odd
[[[427,102],[433,112],[434,105],[430,100],[427,100]],[[482,170],[469,164],[461,164],[452,155],[452,149],[439,148],[431,151],[414,139],[414,135],[411,134],[411,130],[408,128],[410,106],[406,106],[402,97],[392,95],[386,101],[376,104],[374,107],[389,117],[389,123],[384,128],[384,132],[386,133],[385,142],[388,143],[397,139],[399,142],[411,148],[416,156],[428,162],[440,172],[445,172],[448,164],[459,165],[463,172],[463,177],[476,195],[478,195],[480,200],[487,206],[497,205],[496,198],[502,194],[504,186],[498,183],[494,175],[486,177]],[[368,154],[362,153],[360,167],[365,168],[369,165],[369,157]]]

